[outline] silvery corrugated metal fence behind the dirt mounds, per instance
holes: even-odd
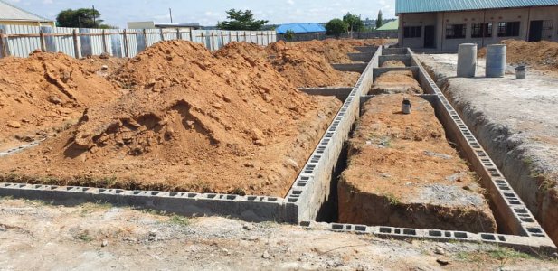
[[[156,42],[185,40],[203,43],[211,51],[229,42],[268,45],[275,31],[222,31],[189,29],[89,29],[50,26],[0,25],[0,57],[26,57],[39,49],[61,51],[72,57],[109,53],[134,57]]]

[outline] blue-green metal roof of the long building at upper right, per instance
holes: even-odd
[[[395,14],[558,5],[558,0],[396,0]]]

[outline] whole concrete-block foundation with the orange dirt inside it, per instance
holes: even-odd
[[[30,138],[3,144],[0,196],[553,253],[412,51],[355,45],[160,42],[100,75],[47,65],[60,55],[18,60],[55,89],[48,107],[24,98]],[[80,84],[99,76],[110,95],[91,104]]]

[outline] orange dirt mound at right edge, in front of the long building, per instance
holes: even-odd
[[[507,61],[515,65],[528,65],[537,70],[558,71],[558,42],[525,42],[505,40]],[[478,57],[484,58],[487,49],[478,51]]]

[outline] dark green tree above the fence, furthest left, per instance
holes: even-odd
[[[80,28],[113,28],[108,24],[103,24],[99,19],[100,13],[92,8],[67,9],[61,11],[56,16],[56,25],[61,27],[80,27]]]

